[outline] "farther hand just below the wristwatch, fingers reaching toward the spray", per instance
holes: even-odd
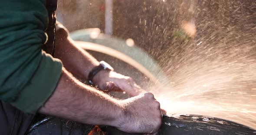
[[[93,82],[101,90],[125,91],[130,96],[146,93],[131,77],[118,74],[114,71],[100,71],[93,78]]]

